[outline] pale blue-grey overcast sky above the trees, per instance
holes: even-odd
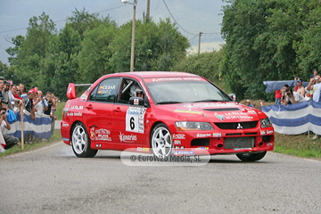
[[[128,0],[133,2],[133,0]],[[166,4],[169,10],[166,7]],[[142,20],[147,0],[137,0],[136,19]],[[220,37],[220,23],[223,16],[221,0],[151,0],[151,16],[154,21],[173,18],[179,24],[179,30],[185,37],[192,39],[203,32],[201,50],[218,49],[223,42]],[[29,19],[40,16],[42,12],[61,29],[72,11],[83,8],[89,13],[99,12],[101,16],[111,17],[119,25],[133,17],[133,5],[122,4],[121,0],[0,0],[0,61],[7,63],[9,55],[5,49],[12,46],[6,40],[18,35],[25,36]],[[172,16],[171,16],[171,14]],[[198,37],[191,40],[193,51],[198,45]]]

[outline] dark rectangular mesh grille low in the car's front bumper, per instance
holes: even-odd
[[[254,147],[254,137],[226,137],[224,139],[225,149],[248,149]]]

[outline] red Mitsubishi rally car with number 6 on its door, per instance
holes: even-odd
[[[197,75],[114,73],[78,98],[76,86],[67,89],[61,133],[77,157],[132,149],[162,157],[206,151],[259,161],[274,149],[274,128],[264,112],[236,103]]]

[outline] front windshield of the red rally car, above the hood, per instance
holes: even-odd
[[[146,81],[156,104],[229,102],[232,99],[205,80]]]

